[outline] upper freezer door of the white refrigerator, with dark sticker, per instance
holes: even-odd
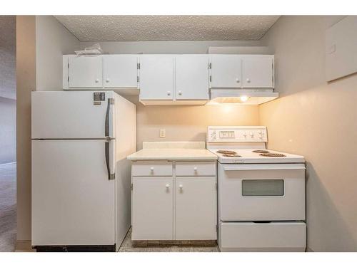
[[[114,137],[114,92],[33,92],[32,139]]]

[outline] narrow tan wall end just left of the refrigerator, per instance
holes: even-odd
[[[35,16],[16,16],[17,240],[31,240],[31,90],[36,89]]]

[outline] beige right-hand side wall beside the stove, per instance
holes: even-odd
[[[281,98],[260,106],[268,147],[307,161],[308,247],[357,251],[357,75],[326,83],[325,29],[341,17],[283,16],[263,38]]]

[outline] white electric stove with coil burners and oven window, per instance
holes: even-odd
[[[263,126],[209,126],[221,251],[305,251],[305,159],[266,149]]]

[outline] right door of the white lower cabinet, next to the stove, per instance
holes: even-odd
[[[176,239],[216,239],[216,177],[176,177]]]

